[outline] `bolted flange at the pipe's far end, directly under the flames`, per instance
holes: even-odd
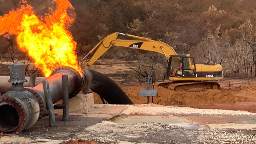
[[[57,67],[56,69],[54,69],[53,72],[51,72],[51,75],[57,74],[58,72],[61,72],[62,70],[68,70],[73,75],[75,75],[75,84],[76,85],[75,85],[74,90],[69,94],[69,98],[73,98],[82,89],[82,78],[81,78],[81,76],[79,75],[79,73],[75,69],[73,69],[72,67],[66,67],[66,66]]]

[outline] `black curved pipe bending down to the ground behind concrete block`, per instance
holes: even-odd
[[[104,98],[108,104],[133,104],[133,101],[123,92],[123,90],[106,75],[90,69],[82,69],[86,80],[84,93],[96,92]]]

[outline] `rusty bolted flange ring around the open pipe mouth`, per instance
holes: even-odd
[[[19,116],[19,124],[13,130],[7,130],[9,132],[0,130],[0,135],[18,135],[19,132],[24,130],[24,128],[27,125],[27,122],[29,122],[30,115],[27,115],[29,113],[29,109],[26,107],[25,103],[20,99],[9,96],[0,97],[0,106],[2,105],[10,105],[16,109],[17,114]],[[0,129],[3,129],[1,125]]]

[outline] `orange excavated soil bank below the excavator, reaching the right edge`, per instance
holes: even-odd
[[[118,84],[118,83],[117,83]],[[120,86],[120,84],[118,84]],[[144,86],[122,88],[134,104],[146,104],[147,97],[139,96],[139,90]],[[198,105],[198,104],[235,104],[245,101],[256,101],[256,83],[240,85],[235,89],[214,90],[205,92],[175,92],[171,89],[155,86],[157,97],[153,98],[154,104],[160,105]],[[102,104],[99,95],[94,93],[95,104]],[[150,103],[152,98],[150,98]]]

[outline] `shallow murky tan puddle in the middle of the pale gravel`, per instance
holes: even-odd
[[[130,116],[118,117],[114,119],[117,124],[137,124],[137,123],[160,123],[160,124],[180,124],[186,123],[184,119],[178,117],[162,117],[162,116]]]

